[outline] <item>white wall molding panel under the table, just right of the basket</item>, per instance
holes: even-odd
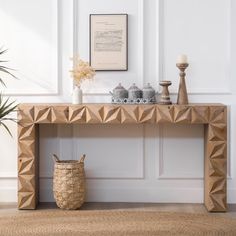
[[[88,150],[87,155],[87,172],[86,178],[87,179],[144,179],[144,159],[145,159],[145,144],[144,144],[144,127],[135,127],[129,126],[127,127],[135,133],[133,138],[135,141],[132,141],[133,138],[129,137],[126,128],[120,127],[109,127],[103,128],[99,126],[95,127],[83,127],[80,125],[73,125],[73,147],[74,147],[74,154],[75,157],[82,155],[82,153],[86,153],[86,148]],[[94,131],[95,130],[95,131]],[[120,130],[120,131],[118,131]],[[98,138],[96,137],[96,133],[103,132],[101,136]],[[110,137],[112,133],[118,133],[118,137],[114,135],[114,137]],[[95,136],[95,138],[94,138]],[[126,138],[128,136],[128,138]],[[125,138],[126,141],[121,141],[122,137]],[[101,150],[104,150],[104,156],[100,150],[96,152],[89,151],[89,147],[86,144],[85,139],[90,138],[90,145],[95,145],[99,141],[99,147]],[[111,139],[114,138],[114,141],[111,142]],[[100,140],[103,140],[100,142]],[[119,141],[120,140],[120,141]],[[118,147],[115,147],[115,143],[117,143]],[[121,145],[122,144],[122,145]],[[124,145],[124,146],[123,146]],[[83,147],[86,146],[86,147]],[[114,146],[114,154],[113,152],[107,151],[109,146]],[[124,149],[123,152],[120,152],[119,149]],[[127,148],[127,153],[126,153]],[[139,151],[136,151],[138,149]],[[119,152],[120,155],[118,156],[116,152]],[[96,157],[97,156],[97,157]],[[134,158],[134,157],[135,158]],[[89,160],[90,158],[91,161]],[[109,159],[112,158],[113,162],[110,162]],[[122,165],[117,162],[117,159],[120,159]],[[126,163],[127,159],[127,163]],[[96,165],[92,164],[94,161],[98,161],[103,163],[99,165],[100,167],[96,168]],[[106,163],[108,161],[108,163]],[[86,160],[85,160],[86,163]],[[116,163],[116,164],[115,164]],[[115,168],[113,165],[119,166],[119,168]],[[135,168],[136,167],[136,168]]]

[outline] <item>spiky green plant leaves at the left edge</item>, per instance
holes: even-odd
[[[2,56],[4,53],[6,53],[7,50],[5,49],[0,49],[0,56]],[[4,63],[6,63],[7,61],[5,60],[0,60],[0,83],[6,87],[6,84],[4,83],[4,80],[2,79],[3,75],[10,75],[13,78],[16,78],[11,72],[10,72],[10,68],[4,66]],[[9,100],[10,98],[8,97],[7,99],[3,98],[2,92],[0,93],[0,126],[3,126],[7,132],[12,136],[9,128],[7,127],[7,125],[4,123],[7,120],[10,121],[16,121],[16,119],[14,118],[10,118],[8,117],[8,115],[15,111],[17,108],[17,105],[15,104],[15,101],[11,102]]]

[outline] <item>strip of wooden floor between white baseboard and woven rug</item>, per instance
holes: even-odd
[[[41,203],[38,210],[57,208],[55,203]],[[229,204],[226,213],[209,213],[203,204],[176,204],[176,203],[85,203],[81,210],[129,210],[129,211],[166,211],[188,212],[218,215],[221,217],[236,218],[236,204]],[[21,210],[22,211],[22,210]],[[30,210],[31,211],[31,210]],[[0,216],[17,213],[15,203],[0,203]],[[27,211],[26,211],[27,212]]]

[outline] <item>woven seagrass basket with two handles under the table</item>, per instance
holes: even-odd
[[[78,209],[85,200],[85,173],[83,155],[80,161],[60,161],[53,154],[53,195],[61,209]]]

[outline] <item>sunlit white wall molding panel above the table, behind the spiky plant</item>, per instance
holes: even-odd
[[[20,12],[25,11],[23,5],[26,4],[27,2],[30,3],[27,6],[28,10],[24,12],[24,16],[23,15],[21,16]],[[5,5],[3,4],[2,10],[3,11],[5,10],[5,12],[7,13],[9,11],[9,8],[10,7],[12,8],[11,4],[12,4],[12,0],[10,0],[8,4],[5,4]],[[10,65],[10,67],[16,69],[14,71],[14,74],[19,79],[18,80],[9,79],[9,82],[7,82],[7,88],[4,89],[5,95],[17,96],[17,97],[36,96],[36,95],[38,96],[59,95],[59,87],[58,87],[59,86],[58,79],[60,78],[59,35],[60,35],[60,28],[61,28],[61,24],[59,24],[59,21],[61,19],[61,15],[60,15],[61,0],[40,1],[39,3],[37,3],[38,9],[37,9],[37,6],[34,6],[33,4],[35,3],[33,3],[30,0],[24,0],[24,2],[22,2],[22,6],[19,7],[17,14],[14,15],[16,19],[10,18],[10,15],[5,14],[5,17],[6,17],[5,21],[7,19],[12,19],[10,23],[11,27],[9,30],[7,30],[7,34],[6,34],[7,36],[5,37],[10,37],[12,39],[14,38],[19,39],[16,43],[16,41],[14,42],[13,40],[10,40],[10,42],[8,42],[9,40],[8,38],[6,38],[6,40],[8,41],[7,43],[5,43],[6,45],[5,47],[10,48],[9,61],[12,64]],[[46,4],[48,4],[48,7],[46,7]],[[36,25],[38,28],[37,27],[30,28],[29,26],[30,24],[33,24],[33,22],[37,22],[37,20],[34,18],[32,18],[32,23],[24,22],[26,19],[30,17],[37,17],[38,12],[34,14],[33,11],[35,9],[37,9],[37,11],[40,11],[40,9],[43,7],[47,9],[52,9],[52,12],[46,11],[46,15],[44,15],[44,17],[47,17],[47,16],[51,17],[51,21],[50,19],[48,19],[48,24],[49,25],[51,24],[51,29],[52,29],[51,32],[46,31],[46,29],[42,29],[42,25],[40,26],[41,28],[39,28],[39,25]],[[4,15],[1,15],[1,16],[4,17]],[[40,17],[42,17],[42,15]],[[40,19],[38,20],[38,22],[40,22]],[[45,20],[42,21],[42,24],[43,23],[45,23]],[[17,27],[18,30],[14,30],[14,27]],[[19,34],[19,30],[22,31],[21,34]],[[45,35],[45,39],[42,39],[41,37],[43,37],[44,35]],[[24,37],[28,37],[28,38],[24,38]],[[46,41],[46,37],[50,38],[49,39],[50,42]],[[5,38],[3,38],[3,43],[4,43],[4,39]],[[26,43],[27,40],[29,40],[28,43]],[[35,43],[36,45],[34,45],[33,43]],[[39,43],[41,44],[39,45]],[[16,46],[19,44],[21,44],[22,49]],[[40,47],[39,49],[40,51],[37,52],[37,49],[39,47]],[[24,54],[24,57],[28,59],[28,63],[25,63],[25,64],[21,62],[22,59],[20,59],[19,55],[17,55],[23,49],[25,50],[25,52],[22,54]],[[51,53],[49,53],[50,50],[51,50]],[[34,52],[35,52],[35,55],[33,55]],[[43,54],[45,55],[44,60],[43,60]],[[49,57],[51,58],[50,60],[48,60]],[[37,59],[35,58],[39,58],[38,61],[36,61]],[[43,70],[45,70],[45,73],[43,72]]]

